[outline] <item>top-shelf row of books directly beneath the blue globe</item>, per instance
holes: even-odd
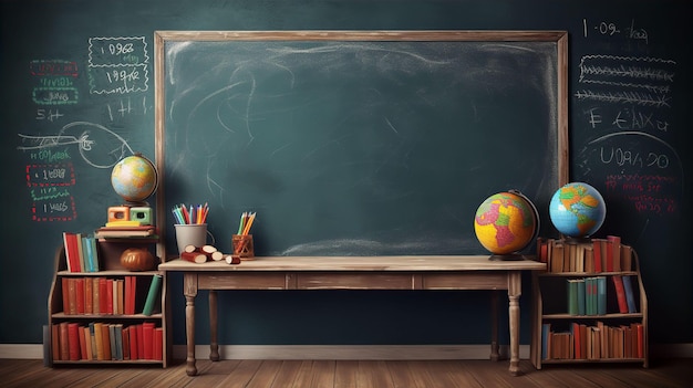
[[[537,239],[539,261],[552,273],[600,273],[632,271],[632,248],[618,235],[606,239]]]

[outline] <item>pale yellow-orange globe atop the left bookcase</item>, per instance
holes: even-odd
[[[142,155],[118,161],[111,172],[113,190],[128,202],[142,202],[156,190],[156,167]]]

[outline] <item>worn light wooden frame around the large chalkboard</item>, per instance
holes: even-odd
[[[557,187],[568,182],[568,32],[566,31],[155,31],[155,156],[158,174],[156,217],[165,222],[165,115],[166,115],[166,42],[213,41],[407,41],[407,42],[554,42],[557,70]],[[159,228],[157,254],[166,260],[166,228]]]

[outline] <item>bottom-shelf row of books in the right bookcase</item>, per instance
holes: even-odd
[[[644,358],[644,328],[641,323],[609,326],[573,322],[568,331],[541,327],[541,359]]]

